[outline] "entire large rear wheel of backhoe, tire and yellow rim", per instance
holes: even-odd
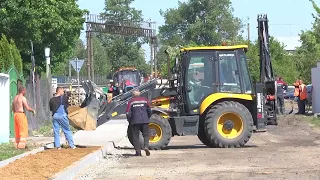
[[[253,133],[253,118],[244,105],[234,101],[221,102],[207,112],[204,131],[209,147],[241,147]]]

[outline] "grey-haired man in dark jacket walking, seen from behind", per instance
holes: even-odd
[[[149,122],[151,109],[149,101],[140,97],[138,90],[133,91],[133,98],[128,102],[126,109],[127,120],[133,137],[133,146],[136,150],[135,156],[141,156],[141,149],[144,149],[147,156],[150,156],[149,146]],[[144,138],[143,147],[139,141],[139,134],[142,132]]]

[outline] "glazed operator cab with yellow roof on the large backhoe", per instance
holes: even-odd
[[[178,65],[186,115],[198,114],[202,101],[215,93],[252,94],[245,52],[248,46],[209,46],[181,49]]]

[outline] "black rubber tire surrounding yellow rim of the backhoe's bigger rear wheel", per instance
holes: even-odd
[[[226,139],[218,132],[218,118],[225,112],[236,113],[243,120],[243,131],[234,139]],[[212,144],[212,147],[239,148],[244,146],[252,136],[253,118],[249,110],[244,105],[234,101],[224,101],[212,106],[207,112],[204,122],[204,130],[210,145]]]

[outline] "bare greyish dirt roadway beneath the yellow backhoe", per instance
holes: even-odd
[[[120,162],[97,179],[320,179],[320,132],[306,119],[312,117],[279,117],[278,126],[254,133],[238,149],[210,149],[194,136],[173,137],[168,150],[149,157],[122,148],[115,153],[122,154]]]

